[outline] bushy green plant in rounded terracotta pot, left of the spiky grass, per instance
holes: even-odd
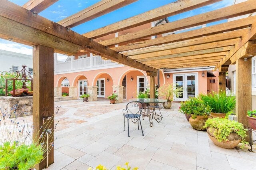
[[[186,105],[186,114],[191,114],[189,118],[190,125],[196,130],[206,130],[204,124],[210,115],[210,107],[197,97],[193,97],[184,102]]]

